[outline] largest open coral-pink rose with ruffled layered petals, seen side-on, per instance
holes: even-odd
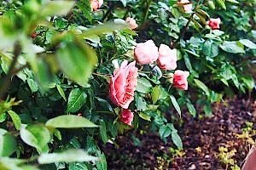
[[[115,105],[127,109],[134,99],[137,86],[137,67],[135,61],[128,65],[128,61],[117,66],[110,80],[109,97]]]

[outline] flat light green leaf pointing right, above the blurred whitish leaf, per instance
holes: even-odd
[[[90,122],[88,119],[83,116],[74,116],[74,115],[62,115],[55,118],[49,119],[45,123],[47,127],[55,128],[79,128],[79,127],[98,127],[93,122]]]

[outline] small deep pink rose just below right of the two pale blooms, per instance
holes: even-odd
[[[189,71],[180,71],[177,70],[173,74],[173,86],[175,88],[187,90],[188,89],[188,81],[187,78],[189,77]]]

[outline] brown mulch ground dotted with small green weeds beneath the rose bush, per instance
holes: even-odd
[[[108,169],[230,169],[221,162],[219,148],[234,151],[233,159],[241,167],[252,144],[239,138],[246,122],[253,122],[256,129],[256,100],[227,99],[213,105],[213,116],[193,118],[183,114],[183,126],[177,127],[183,139],[183,150],[173,150],[173,144],[165,144],[157,133],[132,133],[119,136],[116,143],[102,147],[108,160]],[[241,137],[241,136],[240,136]],[[140,142],[134,142],[138,141]],[[228,156],[227,156],[228,157]],[[224,160],[222,160],[224,161]]]

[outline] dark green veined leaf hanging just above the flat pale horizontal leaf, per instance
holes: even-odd
[[[76,112],[85,104],[87,98],[87,94],[79,88],[74,88],[67,100],[67,111],[68,112]]]

